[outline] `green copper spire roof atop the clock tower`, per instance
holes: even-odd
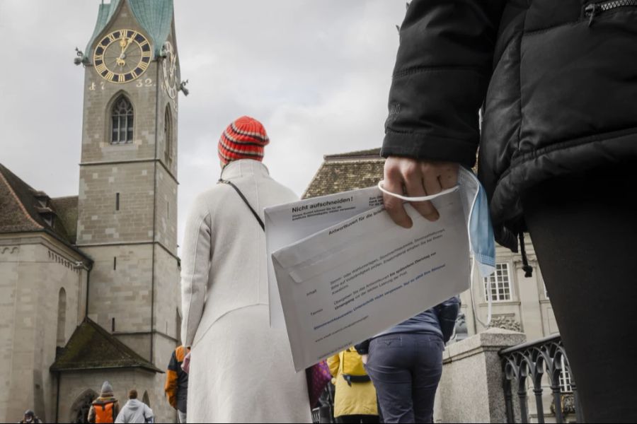
[[[161,55],[161,47],[171,33],[173,0],[111,0],[110,3],[100,5],[95,30],[84,50],[85,64],[91,62],[91,45],[113,19],[122,1],[128,2],[135,19],[151,37],[155,57]]]

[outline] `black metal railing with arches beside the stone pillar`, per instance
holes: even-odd
[[[520,404],[520,421],[529,423],[527,382],[530,379],[535,396],[537,422],[544,423],[544,403],[542,401],[544,375],[548,377],[551,387],[553,395],[551,412],[554,413],[556,422],[563,423],[567,413],[575,413],[577,422],[584,422],[577,386],[572,378],[573,374],[570,372],[568,357],[559,334],[503,349],[500,351],[500,358],[504,375],[507,422],[515,423],[516,414],[513,408],[512,394],[512,389],[515,387]],[[569,379],[566,376],[570,376],[570,381],[566,381]],[[570,386],[572,393],[563,391],[565,386]]]

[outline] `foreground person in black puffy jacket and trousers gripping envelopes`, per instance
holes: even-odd
[[[478,153],[495,240],[517,252],[519,237],[525,262],[529,232],[590,423],[637,417],[625,365],[637,331],[636,11],[634,1],[411,1],[381,150],[384,187],[407,196],[454,187]],[[411,225],[401,201],[384,203]],[[437,219],[430,202],[412,205]]]

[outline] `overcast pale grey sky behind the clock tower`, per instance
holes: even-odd
[[[84,49],[101,0],[0,0],[0,163],[52,197],[76,195]],[[108,2],[108,0],[107,0]],[[304,192],[323,155],[381,146],[405,3],[175,0],[181,76],[179,236],[219,178],[217,141],[243,114],[265,125],[270,174]]]

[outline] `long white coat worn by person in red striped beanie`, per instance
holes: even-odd
[[[256,160],[226,165],[263,220],[297,200]],[[265,234],[239,194],[217,184],[195,200],[182,252],[182,338],[191,346],[189,423],[311,423],[304,372],[285,330],[271,329]]]

